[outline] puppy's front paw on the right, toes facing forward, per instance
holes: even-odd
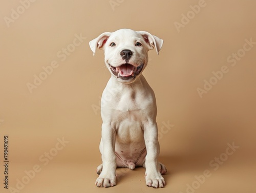
[[[162,188],[165,186],[165,181],[162,175],[160,174],[160,171],[157,171],[155,173],[146,173],[145,174],[146,179],[146,185],[153,188]]]

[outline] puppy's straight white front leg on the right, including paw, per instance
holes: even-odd
[[[144,139],[147,152],[145,158],[146,185],[154,188],[163,187],[165,185],[165,181],[158,169],[158,155],[160,147],[158,143],[156,122],[144,125]]]

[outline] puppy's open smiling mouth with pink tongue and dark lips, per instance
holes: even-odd
[[[143,65],[135,67],[130,63],[124,63],[118,67],[113,67],[109,64],[112,73],[117,76],[117,78],[121,78],[123,80],[128,80],[130,78],[135,78],[142,70]]]

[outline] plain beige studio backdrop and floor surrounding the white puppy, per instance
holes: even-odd
[[[192,15],[189,6],[199,2],[54,0],[27,3],[26,9],[19,1],[2,2],[1,192],[9,192],[2,180],[4,135],[9,136],[9,188],[16,188],[26,170],[41,168],[20,192],[192,192],[187,187],[206,169],[211,176],[195,192],[255,192],[256,45],[240,49],[246,39],[256,41],[256,2],[205,0]],[[17,18],[7,24],[12,9],[24,13],[13,14]],[[187,13],[194,17],[178,32],[175,22]],[[93,108],[99,108],[110,73],[102,51],[92,56],[89,41],[120,28],[164,39],[159,56],[149,53],[144,71],[157,98],[159,160],[168,169],[167,185],[158,190],[145,186],[144,168],[118,169],[113,188],[94,186],[101,117]],[[74,47],[76,34],[83,39]],[[74,50],[64,59],[58,53],[67,47]],[[227,58],[238,51],[243,57],[232,67]],[[58,67],[30,93],[27,84],[53,61]],[[214,81],[212,71],[223,66],[228,73],[200,98],[197,89],[204,80]],[[174,126],[168,130],[165,123]],[[57,138],[69,143],[56,153]],[[225,157],[228,143],[239,148]],[[56,153],[46,165],[39,160],[45,152]],[[215,171],[209,163],[221,155],[225,161]]]

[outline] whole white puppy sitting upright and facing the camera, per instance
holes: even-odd
[[[120,29],[90,41],[90,48],[104,50],[111,73],[101,98],[102,133],[98,187],[116,185],[116,167],[146,168],[146,185],[163,187],[166,167],[158,162],[157,106],[153,90],[141,74],[148,50],[160,51],[163,40],[144,31]]]

